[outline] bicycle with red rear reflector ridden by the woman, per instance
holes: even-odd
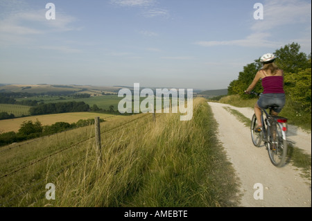
[[[260,94],[254,91],[251,91],[250,94],[260,96]],[[250,132],[252,143],[256,147],[260,147],[261,141],[263,141],[268,149],[268,155],[272,164],[281,167],[284,166],[287,154],[287,118],[271,115],[273,107],[275,106],[269,107],[270,114],[266,112],[266,109],[261,109],[261,132],[256,131],[258,125],[256,114],[252,116]]]

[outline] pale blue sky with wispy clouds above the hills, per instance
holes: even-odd
[[[311,1],[0,0],[0,83],[223,89],[292,42],[311,52]]]

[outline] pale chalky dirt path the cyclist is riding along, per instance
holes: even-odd
[[[265,146],[256,148],[250,129],[223,107],[236,109],[248,118],[250,108],[238,108],[220,103],[209,103],[218,122],[218,135],[241,182],[241,206],[246,207],[305,207],[311,206],[311,180],[302,178],[300,170],[288,163],[276,168],[270,162]],[[296,127],[288,127],[288,137],[298,148],[311,154],[311,134]],[[255,200],[254,193],[263,186],[263,200]]]

